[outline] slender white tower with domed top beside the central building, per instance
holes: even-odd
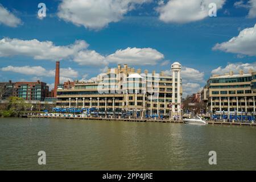
[[[180,97],[180,71],[181,64],[175,62],[171,66],[172,71],[172,113],[176,113],[175,105],[177,105],[177,114],[180,114],[180,105],[181,105],[181,97]],[[177,74],[175,74],[177,73]],[[175,75],[177,75],[177,100],[175,100]]]

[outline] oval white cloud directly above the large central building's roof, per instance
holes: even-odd
[[[109,63],[130,65],[155,65],[164,55],[152,48],[126,48],[115,51],[106,57]]]

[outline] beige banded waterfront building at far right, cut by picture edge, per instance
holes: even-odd
[[[201,91],[208,113],[212,114],[255,114],[256,79],[249,73],[234,75],[212,75]]]

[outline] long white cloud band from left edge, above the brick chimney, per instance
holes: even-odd
[[[68,46],[55,46],[51,41],[19,40],[3,38],[0,40],[0,57],[30,56],[36,60],[71,59],[80,65],[99,65],[104,63],[104,56],[87,48],[84,40],[76,40]]]

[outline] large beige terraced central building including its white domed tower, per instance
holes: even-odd
[[[142,73],[127,64],[118,65],[96,80],[77,81],[71,89],[59,87],[56,106],[95,109],[99,114],[181,115],[181,65],[175,62],[171,71],[172,76],[147,70]]]

